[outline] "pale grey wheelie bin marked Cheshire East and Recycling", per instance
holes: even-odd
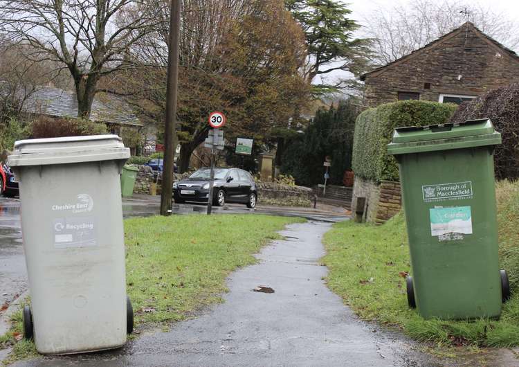
[[[17,141],[30,289],[24,336],[38,352],[118,348],[133,328],[126,295],[120,172],[129,149],[115,135]]]

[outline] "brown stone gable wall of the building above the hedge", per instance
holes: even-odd
[[[519,56],[467,22],[361,76],[365,105],[405,99],[462,102],[519,81]]]

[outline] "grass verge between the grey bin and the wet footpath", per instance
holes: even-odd
[[[167,327],[199,308],[221,302],[226,277],[253,264],[253,256],[280,238],[286,224],[301,218],[271,215],[178,215],[125,220],[127,292],[136,325]],[[23,308],[23,305],[22,307]],[[11,363],[36,355],[34,343],[21,338],[21,310],[0,348],[13,346]]]

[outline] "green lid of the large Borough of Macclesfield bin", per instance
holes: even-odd
[[[500,143],[501,134],[495,131],[491,120],[484,118],[464,123],[398,127],[394,129],[392,142],[388,144],[388,153],[435,152]]]

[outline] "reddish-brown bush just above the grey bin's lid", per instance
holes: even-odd
[[[60,138],[107,134],[107,125],[81,118],[51,118],[39,116],[32,124],[33,138]]]

